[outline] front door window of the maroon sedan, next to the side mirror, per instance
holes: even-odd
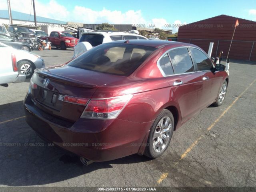
[[[202,51],[195,48],[190,48],[190,51],[199,71],[210,70],[212,68],[211,60]]]

